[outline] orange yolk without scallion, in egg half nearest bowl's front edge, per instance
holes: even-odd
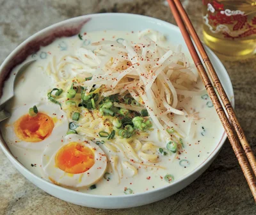
[[[90,170],[94,163],[93,151],[76,142],[68,143],[60,148],[55,157],[56,166],[71,174]]]

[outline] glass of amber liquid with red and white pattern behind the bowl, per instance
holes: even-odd
[[[256,0],[203,0],[204,42],[220,58],[250,58],[256,50]]]

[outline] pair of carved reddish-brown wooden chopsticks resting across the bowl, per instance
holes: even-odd
[[[179,0],[167,1],[172,10],[173,16],[180,28],[186,45],[188,46],[189,52],[193,58],[196,68],[202,78],[202,81],[204,82],[205,88],[209,96],[211,97],[214,108],[216,109],[216,112],[218,113],[221,123],[227,133],[230,144],[232,145],[237,160],[243,170],[244,177],[247,180],[247,183],[252,191],[253,198],[256,202],[256,159],[255,155],[252,152],[252,148],[250,147],[248,141],[246,140],[243,129],[241,128],[241,125],[237,120],[236,113],[234,112],[234,109],[230,104],[227,94],[225,93],[225,90],[223,89],[223,86],[220,83],[220,79],[218,78],[212,66],[212,63],[209,60],[209,57],[207,56],[207,53],[205,52],[205,49],[202,43],[200,42],[200,39],[196,34],[196,31],[193,28],[193,25],[191,24],[191,21],[189,20],[189,17],[186,11],[184,10],[182,4],[180,3]],[[196,49],[189,36],[189,33],[195,42],[198,52],[200,53],[202,59],[204,60],[205,67],[207,68],[207,71],[209,72],[211,79],[208,77],[207,72],[205,71],[204,65],[202,64],[202,61],[200,60],[198,53],[196,52]],[[221,101],[223,102],[223,106],[227,111],[228,116],[225,114],[225,111],[221,106],[221,102],[218,99],[216,92],[214,91],[214,87],[211,84],[211,80],[214,83],[214,86],[218,94],[220,95]],[[232,124],[230,124],[230,122],[228,121],[228,117],[230,118]],[[236,131],[237,136],[234,133],[234,129]],[[239,139],[241,145],[237,138]],[[248,163],[248,161],[250,164]]]

